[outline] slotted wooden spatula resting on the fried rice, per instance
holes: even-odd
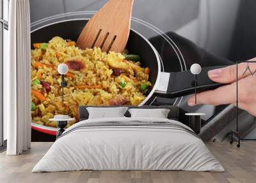
[[[131,26],[133,0],[109,0],[81,32],[77,46],[100,47],[102,51],[124,51]]]

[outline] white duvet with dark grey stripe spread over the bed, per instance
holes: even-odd
[[[170,122],[189,129],[175,120],[160,118],[84,120],[68,128],[64,132],[66,134],[55,141],[32,172],[72,170],[224,171],[204,142],[187,131],[156,126],[77,128],[84,123],[131,123],[135,121]]]

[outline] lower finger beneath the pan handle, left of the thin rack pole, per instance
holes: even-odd
[[[236,102],[236,83],[221,86],[215,90],[198,93],[196,95],[196,102],[195,95],[192,95],[188,99],[189,106],[195,106],[197,104],[218,106],[221,104],[232,104],[234,102]]]

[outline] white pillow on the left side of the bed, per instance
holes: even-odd
[[[89,119],[125,117],[128,107],[86,107]]]

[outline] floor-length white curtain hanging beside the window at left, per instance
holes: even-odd
[[[8,155],[21,154],[31,143],[29,0],[11,0],[8,61],[4,63],[4,120]]]

